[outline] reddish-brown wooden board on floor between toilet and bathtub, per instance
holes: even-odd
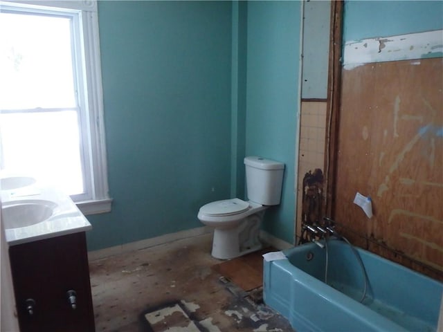
[[[275,251],[275,249],[266,248],[252,252],[248,255],[224,261],[212,268],[244,291],[251,291],[263,285],[262,255],[270,251]]]

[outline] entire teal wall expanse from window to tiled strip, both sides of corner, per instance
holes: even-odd
[[[300,1],[99,1],[112,211],[89,250],[203,224],[245,198],[245,155],[286,165],[265,230],[292,242]]]

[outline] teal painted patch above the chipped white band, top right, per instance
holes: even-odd
[[[343,42],[440,30],[443,1],[346,1]]]

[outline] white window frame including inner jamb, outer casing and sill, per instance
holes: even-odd
[[[79,91],[80,137],[82,140],[82,168],[84,195],[71,199],[83,214],[111,211],[107,182],[107,156],[103,111],[100,40],[98,33],[97,1],[0,1],[0,10],[33,13],[53,13],[72,17],[73,62],[75,85]]]

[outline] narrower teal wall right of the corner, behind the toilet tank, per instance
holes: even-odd
[[[299,111],[300,1],[250,1],[247,12],[246,154],[286,165],[282,202],[264,230],[293,242]]]

